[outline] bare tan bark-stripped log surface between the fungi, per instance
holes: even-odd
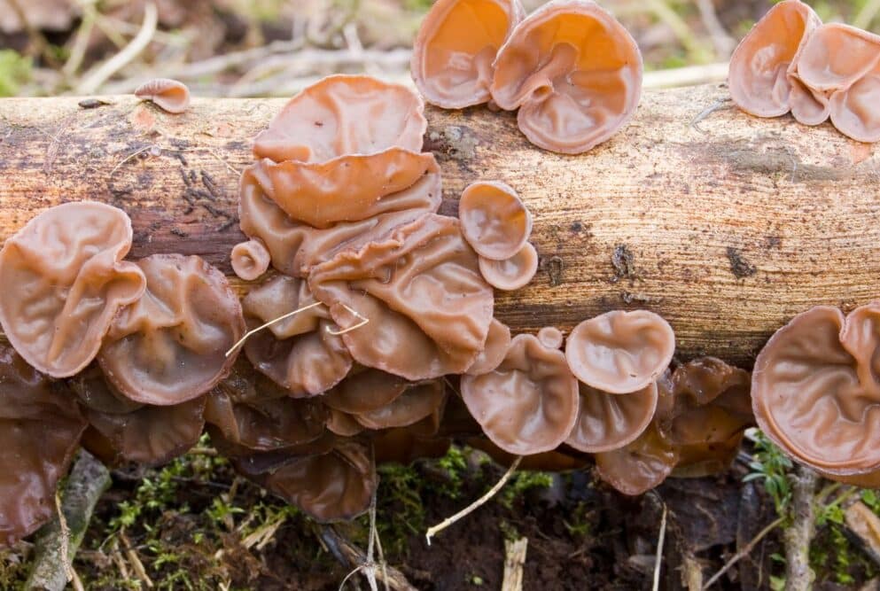
[[[672,323],[681,357],[748,366],[792,315],[880,297],[876,150],[829,125],[752,118],[727,97],[716,85],[649,92],[635,121],[579,157],[534,148],[512,114],[429,109],[442,211],[466,184],[501,179],[535,217],[541,271],[499,294],[497,315],[568,330],[644,307]],[[178,116],[105,100],[0,100],[0,239],[45,207],[97,199],[131,215],[132,256],[198,253],[231,274],[237,171],[284,100],[197,98]]]

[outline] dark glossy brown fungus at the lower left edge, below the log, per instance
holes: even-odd
[[[55,515],[55,486],[86,421],[70,393],[0,346],[0,546]]]

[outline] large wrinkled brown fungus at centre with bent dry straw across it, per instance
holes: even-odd
[[[495,302],[458,222],[434,214],[313,267],[308,285],[355,361],[413,381],[468,369]]]

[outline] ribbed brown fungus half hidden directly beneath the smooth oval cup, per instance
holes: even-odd
[[[629,394],[609,394],[579,384],[580,410],[565,443],[583,452],[619,449],[644,432],[657,409],[657,384]]]

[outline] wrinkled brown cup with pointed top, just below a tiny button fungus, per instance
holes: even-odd
[[[461,389],[488,438],[510,454],[555,449],[578,417],[578,381],[565,354],[534,335],[513,338],[501,365],[481,376],[463,376]]]

